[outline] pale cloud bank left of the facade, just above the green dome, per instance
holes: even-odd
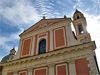
[[[13,48],[13,46],[15,45],[15,41],[19,41],[18,35],[22,31],[23,31],[23,29],[21,29],[19,32],[10,34],[9,36],[1,36],[0,35],[0,48],[1,48],[0,55],[2,55],[3,53],[9,52]],[[13,43],[9,44],[8,42],[13,42]],[[15,48],[16,48],[16,51],[17,51],[18,46],[15,45]]]

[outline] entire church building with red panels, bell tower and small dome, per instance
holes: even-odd
[[[0,62],[1,75],[99,75],[96,45],[86,26],[83,13],[77,9],[73,20],[43,16],[19,35],[17,54],[13,48]]]

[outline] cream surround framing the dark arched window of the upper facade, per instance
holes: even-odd
[[[43,37],[40,37],[40,35],[43,35],[43,34],[46,34],[46,36],[43,36]],[[46,39],[46,52],[48,52],[48,32],[44,32],[44,33],[41,33],[37,36],[37,49],[36,49],[36,54],[38,54],[38,50],[39,50],[39,42],[41,39]]]

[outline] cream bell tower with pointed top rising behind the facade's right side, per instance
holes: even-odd
[[[73,25],[76,31],[76,37],[80,42],[85,43],[91,41],[90,34],[87,32],[86,29],[86,19],[83,13],[81,13],[77,9],[73,15]]]

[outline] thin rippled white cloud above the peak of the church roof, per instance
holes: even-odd
[[[54,13],[57,13],[54,8],[55,5],[49,0],[36,0],[35,4],[35,8],[39,10],[39,14],[42,16],[45,14],[47,18],[52,18]]]

